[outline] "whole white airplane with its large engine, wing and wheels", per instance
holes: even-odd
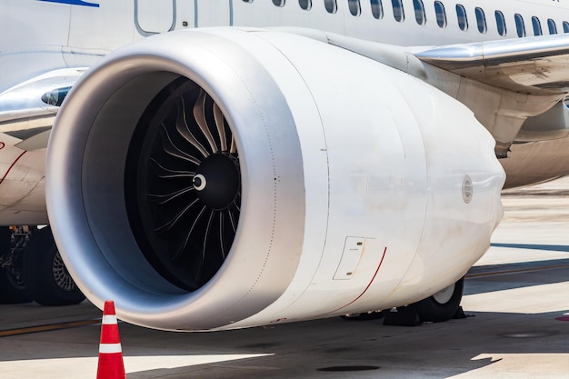
[[[0,238],[12,301],[444,321],[502,189],[569,175],[564,0],[0,9],[0,224],[32,225]]]

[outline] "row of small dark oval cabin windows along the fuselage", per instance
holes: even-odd
[[[253,0],[243,0],[245,3],[253,3]],[[358,16],[362,13],[362,7],[360,5],[360,0],[347,0],[348,9],[352,15]],[[284,6],[285,0],[273,0],[273,4],[276,6]],[[376,19],[384,18],[384,6],[382,0],[370,0],[372,6],[372,15]],[[312,8],[312,0],[298,0],[298,4],[305,11]],[[393,7],[394,19],[395,21],[402,23],[405,19],[403,0],[391,0],[391,5]],[[418,25],[424,25],[426,23],[426,15],[424,12],[423,0],[413,0],[414,6],[414,19]],[[338,10],[337,0],[324,0],[324,7],[328,13],[334,14]],[[466,15],[466,9],[464,5],[457,4],[456,18],[458,21],[458,27],[466,31],[468,30],[468,16]],[[436,24],[441,28],[445,28],[447,25],[446,21],[446,9],[441,1],[434,2],[434,14],[436,15]],[[488,25],[486,24],[486,15],[484,14],[484,9],[480,7],[474,8],[474,15],[476,17],[476,26],[478,31],[482,34],[488,31]],[[507,28],[505,25],[504,14],[501,11],[495,11],[494,17],[496,19],[496,27],[498,29],[499,35],[506,35]],[[524,37],[525,24],[524,17],[520,14],[514,15],[515,31],[518,37]],[[542,24],[539,18],[536,16],[532,17],[532,27],[534,29],[534,35],[543,35]],[[550,35],[557,34],[557,25],[555,21],[551,18],[547,19],[547,29]],[[567,21],[563,22],[564,33],[569,33],[569,23]]]

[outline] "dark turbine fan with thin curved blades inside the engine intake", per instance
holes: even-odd
[[[234,135],[204,89],[181,78],[155,97],[136,127],[125,179],[148,261],[188,291],[207,283],[235,238],[241,174]]]

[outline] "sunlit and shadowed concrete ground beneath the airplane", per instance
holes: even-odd
[[[465,282],[472,317],[415,327],[333,318],[207,334],[120,324],[126,377],[569,378],[566,188],[563,179],[504,194],[494,245]],[[0,305],[0,379],[95,378],[100,325],[74,323],[100,317],[88,303]],[[62,323],[75,327],[14,331]]]

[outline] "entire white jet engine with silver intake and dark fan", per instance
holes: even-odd
[[[408,304],[502,215],[474,115],[340,48],[221,28],[147,38],[75,85],[48,147],[55,240],[120,318],[227,329]]]

